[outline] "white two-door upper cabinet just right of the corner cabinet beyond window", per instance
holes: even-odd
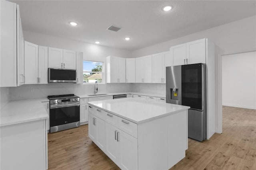
[[[152,83],[152,55],[135,59],[136,83]]]

